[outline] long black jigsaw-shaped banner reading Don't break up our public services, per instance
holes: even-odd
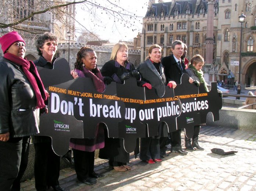
[[[138,87],[134,77],[124,84],[111,82],[103,93],[96,91],[92,79],[72,79],[67,60],[58,58],[54,68],[38,67],[45,88],[50,93],[48,114],[40,117],[40,133],[50,136],[56,154],[64,155],[70,138],[95,137],[96,126],[105,124],[108,137],[124,140],[124,148],[131,153],[140,137],[158,136],[160,123],[168,132],[185,128],[186,136],[193,136],[193,126],[203,123],[207,113],[218,120],[221,97],[216,83],[211,91],[189,84],[184,74],[175,89],[166,86],[159,98],[155,89]]]

